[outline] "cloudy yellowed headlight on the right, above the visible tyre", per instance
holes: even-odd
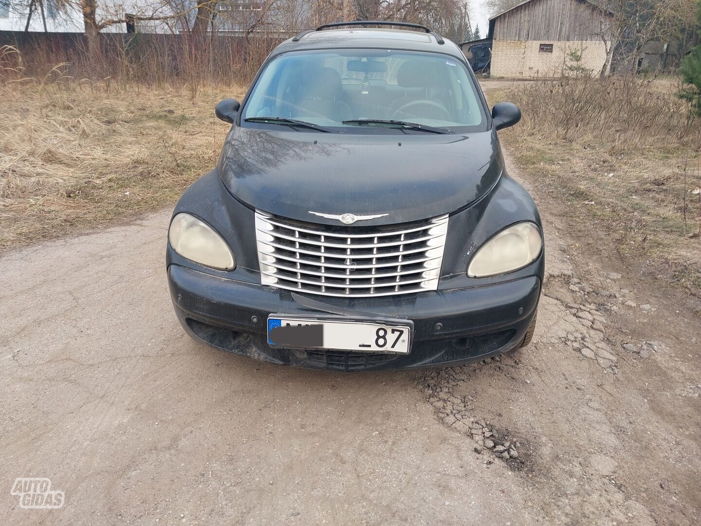
[[[486,278],[515,271],[540,255],[543,240],[535,223],[517,223],[484,243],[468,266],[470,278]]]

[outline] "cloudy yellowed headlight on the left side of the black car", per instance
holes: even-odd
[[[193,215],[179,213],[173,217],[168,231],[168,241],[175,252],[193,262],[213,269],[236,268],[236,259],[224,238]]]

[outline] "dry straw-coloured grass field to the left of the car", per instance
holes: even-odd
[[[215,166],[238,86],[183,88],[50,78],[0,90],[0,249],[172,203]]]

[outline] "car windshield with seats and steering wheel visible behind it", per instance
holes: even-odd
[[[486,129],[465,65],[440,53],[393,50],[280,55],[261,73],[242,115],[243,121],[265,117],[338,130],[407,129],[401,123],[461,132]]]

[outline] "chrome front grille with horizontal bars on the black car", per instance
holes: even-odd
[[[261,282],[325,296],[436,290],[447,231],[447,215],[386,227],[332,227],[256,212]]]

